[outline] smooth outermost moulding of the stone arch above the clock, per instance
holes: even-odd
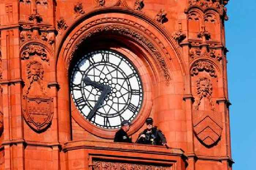
[[[187,75],[187,69],[185,69],[185,64],[184,64],[185,62],[184,62],[184,59],[182,57],[182,54],[181,54],[181,51],[179,49],[177,42],[174,41],[171,34],[168,33],[161,24],[156,22],[154,19],[148,17],[147,15],[143,14],[142,12],[135,11],[128,7],[118,7],[116,5],[114,5],[114,6],[112,5],[111,7],[95,8],[92,11],[89,11],[86,14],[83,14],[80,17],[76,18],[74,21],[72,21],[71,22],[72,24],[70,26],[68,26],[68,28],[67,28],[67,30],[65,30],[64,34],[61,34],[61,37],[57,38],[58,39],[57,41],[59,41],[59,43],[57,43],[57,46],[56,46],[57,60],[59,60],[59,56],[62,53],[61,50],[62,50],[62,47],[64,45],[66,38],[68,37],[68,35],[71,33],[71,31],[73,29],[75,29],[84,20],[90,19],[91,17],[93,17],[95,15],[108,14],[111,12],[117,12],[119,14],[127,14],[127,15],[134,16],[134,17],[138,18],[139,20],[147,22],[148,25],[154,27],[154,29],[156,31],[158,31],[158,33],[160,33],[162,35],[162,37],[165,39],[164,41],[166,41],[169,48],[171,48],[171,50],[174,52],[173,53],[174,56],[171,56],[172,59],[175,58],[177,60],[178,64],[181,67],[182,73],[184,75]],[[104,22],[103,20],[102,20],[102,22]],[[98,22],[98,21],[95,20],[94,22]],[[129,21],[127,21],[127,20],[125,21],[123,18],[119,18],[118,22],[120,22],[120,23],[124,22],[124,24],[129,23]],[[133,23],[133,27],[137,27],[138,29],[140,29],[140,27],[143,27],[143,26],[139,25],[137,23]],[[84,29],[86,29],[86,28],[84,28]],[[145,31],[148,31],[148,30],[145,29]],[[163,46],[163,43],[157,37],[154,37],[154,34],[152,34],[152,33],[150,33],[150,34],[151,34],[152,38],[155,39],[156,42],[159,41],[159,44],[161,46]],[[166,47],[163,46],[163,49],[164,48],[166,48]],[[164,50],[167,55],[170,55],[166,49],[164,49]],[[56,64],[57,64],[57,60],[56,60]]]

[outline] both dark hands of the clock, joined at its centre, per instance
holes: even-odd
[[[101,93],[98,101],[95,103],[95,106],[93,107],[93,109],[90,111],[90,113],[87,116],[87,119],[91,120],[91,118],[94,116],[94,113],[96,112],[96,110],[103,103],[105,97],[111,92],[111,88],[108,85],[99,84],[97,82],[91,81],[89,77],[84,78],[84,82],[86,85],[91,85],[91,86],[98,88],[99,90],[102,90],[102,93]]]

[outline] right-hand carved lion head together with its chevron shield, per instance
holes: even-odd
[[[196,81],[196,95],[193,105],[193,129],[197,139],[210,147],[221,137],[222,114],[216,111],[212,101],[212,83],[209,78],[200,77]],[[202,100],[208,100],[210,110],[199,109]]]

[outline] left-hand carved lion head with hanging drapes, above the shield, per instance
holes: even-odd
[[[33,83],[38,83],[41,94],[46,96],[46,91],[42,81],[44,78],[44,68],[42,64],[39,63],[38,61],[30,61],[26,67],[26,75],[27,75],[27,81],[25,82],[26,90],[25,90],[24,96],[29,95],[29,91]]]

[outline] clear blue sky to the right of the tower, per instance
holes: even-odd
[[[255,170],[256,0],[230,0],[225,22],[233,170]]]

